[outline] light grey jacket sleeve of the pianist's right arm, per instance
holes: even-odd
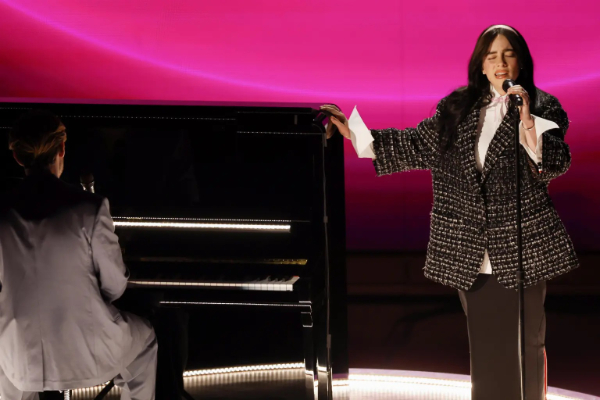
[[[127,287],[128,271],[123,263],[107,199],[102,201],[98,209],[91,245],[100,292],[107,301],[113,302],[121,297]]]

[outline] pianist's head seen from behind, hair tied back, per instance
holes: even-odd
[[[49,111],[33,110],[21,116],[8,136],[8,148],[25,174],[49,171],[60,177],[64,169],[67,132]]]

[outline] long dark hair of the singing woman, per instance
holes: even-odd
[[[481,71],[483,70],[483,60],[498,35],[503,35],[508,39],[517,55],[520,71],[516,83],[523,86],[529,94],[531,112],[535,112],[537,89],[533,83],[533,59],[529,47],[516,29],[507,25],[492,26],[493,28],[484,30],[477,39],[469,61],[468,85],[452,92],[446,98],[444,106],[440,110],[438,132],[440,135],[440,148],[444,152],[454,144],[457,127],[465,117],[474,108],[488,105],[492,99],[490,82]]]

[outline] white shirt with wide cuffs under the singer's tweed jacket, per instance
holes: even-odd
[[[508,104],[505,100],[508,95],[501,96],[493,86],[492,93],[492,102],[489,105],[481,108],[481,115],[479,117],[479,124],[477,126],[478,134],[474,150],[477,169],[480,172],[483,170],[488,147],[508,110]],[[535,151],[530,149],[527,145],[525,130],[523,129],[522,124],[520,129],[520,141],[521,145],[527,151],[529,157],[531,157],[531,159],[537,164],[542,160],[542,133],[549,129],[558,128],[558,125],[547,119],[536,117],[534,115],[532,115],[532,117],[537,136],[537,146]],[[354,145],[354,149],[356,150],[358,157],[374,159],[375,152],[373,151],[373,136],[371,135],[371,131],[364,124],[361,116],[358,114],[356,107],[354,107],[350,118],[348,118],[348,125],[352,136],[352,144]],[[492,265],[490,263],[487,249],[484,253],[483,262],[481,263],[479,273],[492,273]]]

